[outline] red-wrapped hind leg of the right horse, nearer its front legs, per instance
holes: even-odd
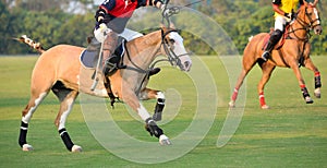
[[[262,109],[268,109],[269,106],[266,105],[264,89],[265,89],[265,85],[269,81],[271,73],[275,70],[276,65],[265,62],[265,63],[261,64],[261,68],[263,71],[263,76],[257,85],[259,103],[261,103]]]

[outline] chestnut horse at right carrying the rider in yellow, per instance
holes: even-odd
[[[264,86],[269,81],[271,72],[276,67],[291,68],[299,81],[303,97],[306,104],[312,104],[313,100],[305,87],[299,64],[304,65],[315,74],[315,96],[320,97],[320,74],[318,69],[314,65],[310,58],[310,29],[314,28],[315,34],[322,34],[320,20],[317,9],[308,3],[303,4],[298,12],[295,21],[293,21],[287,29],[287,39],[283,46],[279,49],[272,50],[271,58],[264,62],[261,59],[263,53],[263,46],[265,45],[265,37],[267,33],[261,33],[250,39],[250,43],[244,49],[243,69],[235,84],[234,92],[231,96],[230,107],[234,107],[238,97],[239,88],[241,87],[244,77],[258,62],[263,71],[263,76],[258,83],[257,91],[259,95],[259,103],[263,109],[269,108],[265,103]],[[279,46],[278,44],[276,46]]]

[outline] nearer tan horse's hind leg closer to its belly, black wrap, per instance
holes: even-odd
[[[72,140],[65,129],[66,118],[73,108],[73,105],[74,105],[75,98],[78,95],[78,92],[64,87],[64,85],[61,82],[56,83],[56,85],[52,87],[52,92],[60,100],[60,109],[59,109],[58,116],[55,120],[55,124],[58,129],[58,132],[59,132],[65,147],[70,152],[82,152],[82,147],[78,145],[75,145],[72,142]]]

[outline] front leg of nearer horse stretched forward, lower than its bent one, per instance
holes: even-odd
[[[164,134],[164,131],[157,125],[145,107],[140,103],[137,96],[132,91],[123,91],[123,101],[128,104],[145,121],[145,129],[159,139],[161,145],[170,145],[170,140]]]

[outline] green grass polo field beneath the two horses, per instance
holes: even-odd
[[[59,108],[53,94],[48,95],[29,124],[27,141],[35,149],[22,152],[17,144],[21,111],[29,97],[29,77],[36,59],[0,57],[0,167],[327,167],[327,57],[313,57],[323,80],[322,98],[313,97],[313,105],[304,103],[292,70],[277,68],[265,89],[266,101],[271,109],[262,110],[256,92],[261,70],[255,67],[247,76],[244,116],[237,132],[223,147],[217,147],[216,143],[227,116],[229,83],[219,59],[202,57],[214,76],[219,96],[214,123],[205,139],[190,153],[154,165],[129,161],[104,148],[89,132],[78,100],[66,128],[84,152],[68,152],[53,124]],[[313,73],[304,69],[302,72],[313,96]],[[173,137],[192,121],[194,113],[189,111],[195,108],[196,94],[190,91],[194,88],[190,84],[192,81],[182,72],[164,68],[159,75],[161,77],[157,75],[152,79],[150,86],[174,88],[183,97],[180,113],[174,118],[173,113],[168,113],[173,121],[162,125],[167,134]],[[152,111],[155,101],[144,104]],[[121,129],[132,136],[155,141],[122,104],[117,104],[111,112]]]

